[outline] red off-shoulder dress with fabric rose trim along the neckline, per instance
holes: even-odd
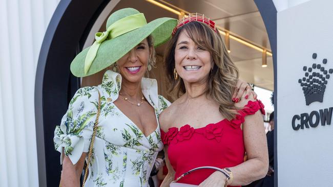
[[[260,100],[248,101],[231,121],[224,119],[198,129],[184,125],[180,129],[169,128],[166,133],[161,130],[162,141],[169,146],[168,156],[176,172],[175,179],[197,167],[228,168],[242,163],[245,148],[240,126],[246,115],[255,114],[258,110],[264,114],[263,108]],[[197,170],[178,182],[199,185],[213,172],[215,171]]]

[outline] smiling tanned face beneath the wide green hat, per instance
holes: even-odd
[[[142,40],[130,52],[117,61],[117,67],[122,79],[132,83],[141,82],[148,68],[151,56],[151,48],[148,40]]]

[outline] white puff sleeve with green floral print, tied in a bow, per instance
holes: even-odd
[[[54,131],[54,147],[61,153],[60,164],[63,162],[63,149],[74,165],[83,152],[88,152],[97,106],[98,91],[95,87],[83,87],[76,91]]]

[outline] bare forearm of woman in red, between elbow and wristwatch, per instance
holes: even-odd
[[[233,172],[234,177],[229,185],[247,185],[265,177],[268,170],[268,159],[252,158],[229,169]]]

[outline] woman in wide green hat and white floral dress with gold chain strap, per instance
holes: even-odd
[[[112,66],[102,83],[77,90],[54,132],[63,164],[61,185],[79,186],[87,161],[86,186],[149,186],[157,153],[162,150],[158,116],[170,102],[157,94],[157,82],[143,78],[155,63],[154,47],[169,40],[177,20],[147,24],[132,8],[108,18],[107,31],[71,63],[77,77]],[[154,41],[154,42],[153,42]]]

